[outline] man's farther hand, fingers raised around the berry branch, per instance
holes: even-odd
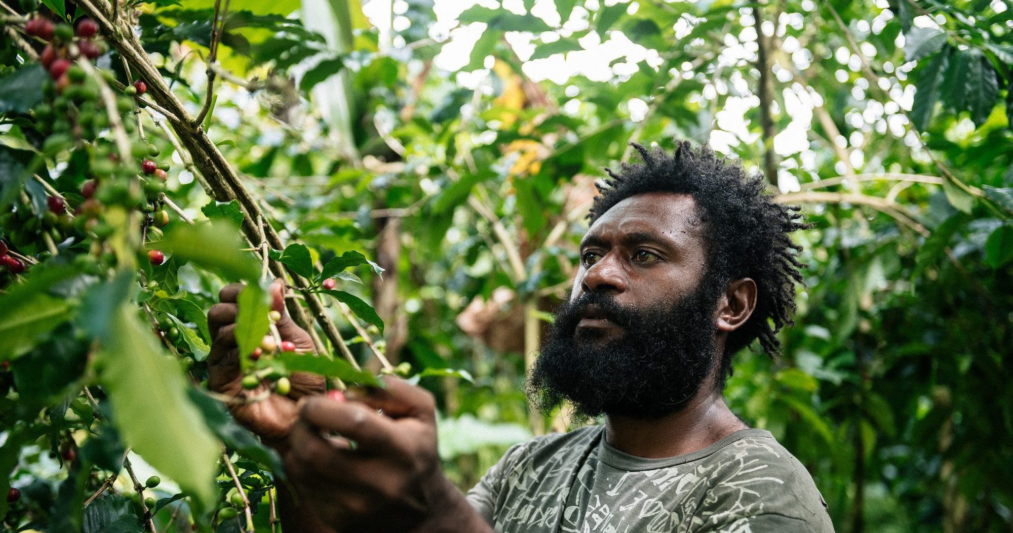
[[[211,353],[208,355],[208,387],[216,392],[237,397],[243,392],[242,373],[239,365],[239,348],[236,345],[236,313],[239,308],[236,298],[244,288],[242,284],[227,285],[218,295],[221,303],[208,311],[208,326],[211,330]],[[278,331],[282,340],[291,340],[299,352],[313,352],[313,339],[285,312],[285,287],[276,282],[270,286],[272,308],[282,312]],[[305,372],[295,372],[289,377],[292,390],[282,396],[271,393],[261,401],[251,403],[234,402],[229,410],[240,424],[260,436],[264,444],[282,449],[299,418],[296,401],[303,396],[323,393],[326,386],[323,377]],[[258,396],[267,390],[265,385],[247,391],[250,396]]]

